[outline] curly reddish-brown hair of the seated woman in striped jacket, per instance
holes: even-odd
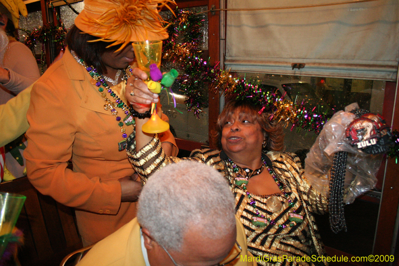
[[[222,112],[217,117],[216,132],[212,134],[213,144],[217,149],[221,150],[221,132],[226,120],[234,114],[238,109],[240,112],[250,114],[255,121],[262,128],[267,137],[267,144],[262,148],[262,152],[268,151],[282,151],[284,150],[284,132],[280,123],[270,120],[271,112],[259,111],[262,107],[254,105],[250,101],[231,100],[223,108]]]

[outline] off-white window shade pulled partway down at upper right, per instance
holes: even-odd
[[[346,1],[227,0],[227,8],[339,2]],[[231,71],[395,81],[398,60],[398,0],[227,11],[224,64]]]

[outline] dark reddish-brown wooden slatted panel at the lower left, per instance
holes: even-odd
[[[21,266],[58,266],[66,255],[83,246],[73,209],[40,194],[26,177],[2,183],[0,191],[26,196],[16,223],[24,234],[18,252]]]

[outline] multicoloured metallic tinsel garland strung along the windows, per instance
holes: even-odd
[[[55,10],[54,10],[55,11]],[[177,9],[176,17],[170,16],[168,27],[169,38],[164,41],[163,63],[161,68],[169,70],[175,68],[179,71],[179,77],[171,87],[174,92],[186,96],[186,105],[189,111],[193,111],[198,117],[203,108],[208,106],[206,84],[211,84],[212,90],[224,93],[227,97],[236,99],[251,99],[261,103],[266,110],[274,112],[273,119],[283,121],[286,126],[291,124],[291,130],[295,127],[318,134],[324,124],[330,119],[332,113],[323,112],[315,106],[304,102],[293,104],[277,96],[273,91],[260,88],[256,80],[246,80],[233,77],[229,71],[221,70],[218,62],[209,65],[201,57],[202,44],[201,27],[205,19],[204,15],[196,15],[188,9]],[[59,17],[57,16],[59,19]],[[165,19],[165,18],[164,18]],[[29,33],[25,44],[33,49],[37,42],[55,42],[56,45],[65,47],[64,39],[66,30],[59,19],[61,26],[43,25]],[[43,56],[42,56],[43,57]],[[43,63],[43,62],[42,62]],[[396,146],[389,153],[390,157],[399,158],[399,137],[395,131]]]

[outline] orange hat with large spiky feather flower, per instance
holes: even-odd
[[[85,33],[112,42],[109,46],[168,38],[167,22],[158,10],[175,0],[84,0],[75,25]],[[118,49],[119,50],[119,49]]]

